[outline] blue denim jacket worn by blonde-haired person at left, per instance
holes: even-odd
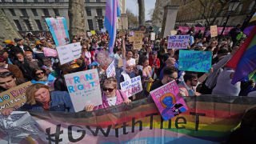
[[[37,102],[35,105],[25,104],[19,110],[38,110],[43,111],[42,104]],[[70,99],[70,94],[66,91],[50,92],[50,111],[74,112],[74,106]]]

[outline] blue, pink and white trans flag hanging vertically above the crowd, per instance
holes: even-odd
[[[109,50],[113,53],[115,36],[117,33],[117,17],[121,16],[118,0],[106,0],[106,14],[104,26],[110,34]]]

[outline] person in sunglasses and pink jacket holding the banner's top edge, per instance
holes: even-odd
[[[126,93],[124,93],[122,90],[118,90],[118,82],[116,78],[110,77],[106,78],[104,81],[102,105],[86,105],[86,111],[104,109],[106,107],[116,106],[122,103],[126,103],[126,105],[128,105],[130,102],[131,101],[129,98],[127,98]]]

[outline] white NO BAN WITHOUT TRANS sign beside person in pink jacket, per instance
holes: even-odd
[[[142,91],[141,76],[130,78],[130,81],[120,83],[121,90],[126,93],[128,97]]]

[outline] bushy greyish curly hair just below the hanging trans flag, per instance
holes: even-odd
[[[113,62],[113,59],[110,57],[110,53],[108,51],[102,50],[96,55],[96,61],[99,63],[99,66],[108,67],[111,62]]]

